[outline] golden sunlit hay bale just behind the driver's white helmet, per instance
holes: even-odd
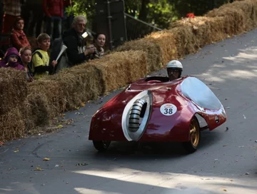
[[[177,42],[171,31],[163,30],[158,32],[153,32],[146,36],[144,39],[157,44],[161,48],[161,63],[163,66],[174,58],[178,58]],[[158,64],[156,64],[158,65]],[[160,66],[156,66],[156,70]]]

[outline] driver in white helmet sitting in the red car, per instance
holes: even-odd
[[[177,60],[169,61],[166,65],[168,78],[170,81],[173,81],[177,78],[181,77],[181,73],[183,71],[182,63]]]

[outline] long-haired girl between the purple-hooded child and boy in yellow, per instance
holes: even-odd
[[[21,63],[25,68],[26,71],[26,80],[31,82],[34,80],[33,74],[31,73],[31,58],[32,58],[32,51],[29,46],[25,46],[21,48],[19,51],[19,55],[21,56]]]

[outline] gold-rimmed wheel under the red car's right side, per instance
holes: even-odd
[[[194,153],[197,150],[201,139],[200,126],[196,116],[191,120],[189,133],[190,141],[183,142],[183,148],[185,148],[188,153]]]

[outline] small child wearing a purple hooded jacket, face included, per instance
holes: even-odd
[[[8,48],[5,55],[4,61],[0,62],[0,67],[11,67],[18,70],[24,70],[24,66],[21,66],[21,58],[19,57],[19,52],[16,48]]]

